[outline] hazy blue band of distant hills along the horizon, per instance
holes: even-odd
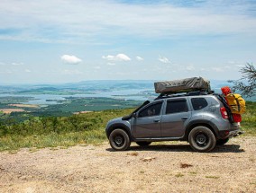
[[[138,90],[138,92],[154,92],[154,83],[160,80],[95,80],[78,83],[58,84],[21,84],[0,85],[0,93],[4,94],[83,94],[90,92],[113,92],[124,90]],[[210,80],[211,89],[221,93],[223,86],[232,87],[232,83],[223,80]],[[247,99],[256,101],[256,97]]]

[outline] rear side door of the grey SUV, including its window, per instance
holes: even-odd
[[[162,137],[184,136],[191,111],[188,109],[187,99],[170,99],[166,101],[166,108],[161,118]]]

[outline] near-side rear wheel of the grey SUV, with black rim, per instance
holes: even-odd
[[[197,152],[210,152],[215,148],[216,137],[210,128],[199,126],[190,131],[188,142]]]

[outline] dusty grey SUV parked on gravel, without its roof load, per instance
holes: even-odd
[[[187,93],[145,101],[129,116],[110,120],[105,133],[114,150],[131,142],[187,141],[197,152],[209,152],[241,133],[224,98],[218,94]]]

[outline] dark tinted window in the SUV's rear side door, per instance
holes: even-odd
[[[187,112],[187,101],[167,101],[166,114]]]

